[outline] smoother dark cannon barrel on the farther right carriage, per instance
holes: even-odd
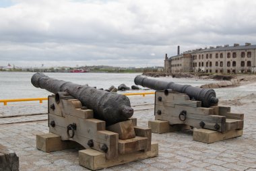
[[[139,86],[151,88],[153,90],[174,90],[180,93],[187,94],[190,99],[201,101],[201,106],[210,107],[214,104],[218,104],[218,98],[216,93],[212,89],[196,88],[189,85],[181,85],[174,82],[160,81],[156,79],[149,79],[138,75],[134,79],[134,83]]]

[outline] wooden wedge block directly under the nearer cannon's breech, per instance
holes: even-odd
[[[119,134],[119,139],[131,139],[135,137],[133,121],[123,121],[106,127],[106,130]]]

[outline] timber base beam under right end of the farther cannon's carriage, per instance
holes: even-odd
[[[220,133],[210,129],[195,129],[193,131],[193,140],[202,143],[214,143],[241,135],[243,135],[243,130],[230,130],[226,133]]]

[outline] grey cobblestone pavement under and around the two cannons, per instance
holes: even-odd
[[[148,121],[154,120],[153,97],[131,98],[133,106],[139,105],[134,107],[133,115],[139,126],[148,127]],[[159,145],[158,157],[105,170],[256,170],[256,103],[254,100],[241,102],[243,106],[231,106],[231,110],[245,113],[243,136],[205,144],[193,141],[192,131],[152,133],[152,141]],[[44,105],[38,106],[44,108],[40,111],[46,110]],[[5,112],[11,113],[9,110]],[[26,111],[35,113],[36,110],[31,105],[26,107]],[[87,170],[78,164],[79,149],[51,153],[36,149],[36,134],[48,132],[47,121],[0,125],[0,144],[13,149],[20,157],[20,170]]]

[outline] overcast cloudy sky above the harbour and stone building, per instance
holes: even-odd
[[[205,46],[256,44],[252,0],[0,0],[0,66],[163,66]]]

